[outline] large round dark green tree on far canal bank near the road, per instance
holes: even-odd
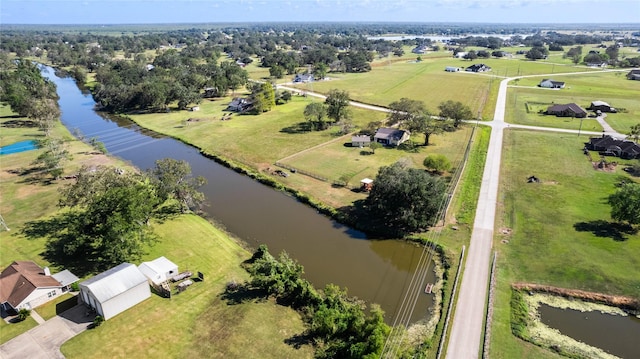
[[[396,162],[380,168],[365,206],[371,216],[404,235],[434,224],[445,191],[439,177]]]

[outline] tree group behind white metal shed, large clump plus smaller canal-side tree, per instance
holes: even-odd
[[[184,161],[164,159],[147,173],[112,167],[82,168],[77,181],[62,190],[65,211],[30,222],[24,233],[47,238],[52,263],[79,273],[94,273],[135,261],[156,240],[150,221],[197,209],[205,180],[194,178]]]

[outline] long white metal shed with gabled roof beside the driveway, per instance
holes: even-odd
[[[80,283],[79,297],[106,320],[151,297],[151,289],[135,264],[122,263]]]

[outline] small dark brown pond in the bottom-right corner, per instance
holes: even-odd
[[[581,312],[541,304],[542,323],[620,358],[640,358],[640,319],[598,311]]]

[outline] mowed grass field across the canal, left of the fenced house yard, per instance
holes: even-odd
[[[240,95],[239,95],[240,96]],[[132,115],[140,125],[191,143],[207,153],[224,155],[253,167],[272,164],[276,160],[337,137],[337,128],[326,131],[306,131],[304,108],[317,98],[294,96],[284,105],[261,115],[238,115],[230,120],[221,118],[231,98],[203,100],[200,111],[172,111]],[[381,121],[382,112],[352,108],[354,125],[362,128],[372,121]],[[189,118],[200,121],[186,122]]]

